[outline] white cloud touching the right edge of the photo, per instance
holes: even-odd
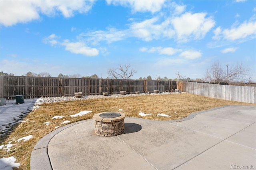
[[[256,22],[255,21],[244,21],[239,26],[233,26],[230,29],[224,29],[222,32],[226,40],[239,40],[244,39],[248,36],[256,35]]]

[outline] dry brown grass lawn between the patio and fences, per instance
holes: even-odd
[[[253,104],[213,99],[189,93],[46,103],[42,104],[39,109],[29,113],[26,117],[28,121],[20,123],[11,134],[4,136],[4,141],[1,142],[0,145],[7,144],[9,141],[13,141],[12,144],[16,145],[9,152],[0,150],[0,154],[1,157],[14,156],[17,159],[16,162],[21,164],[19,169],[30,169],[30,155],[35,144],[43,136],[55,130],[55,127],[66,120],[74,123],[76,121],[91,119],[96,113],[118,111],[118,109],[123,109],[123,111],[120,112],[125,113],[126,116],[129,117],[140,117],[152,120],[172,120],[184,118],[190,113],[224,105]],[[70,117],[70,115],[74,115],[80,111],[92,111],[92,113],[81,117]],[[139,112],[150,113],[152,115],[141,117],[138,115]],[[158,113],[170,115],[170,117],[158,117]],[[51,119],[57,115],[64,117],[62,119]],[[43,124],[48,121],[50,121],[50,125],[46,126]],[[33,137],[26,142],[15,141],[31,134]]]

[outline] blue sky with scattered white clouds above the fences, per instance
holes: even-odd
[[[253,0],[1,0],[1,71],[108,77],[204,77],[243,63],[256,81]]]

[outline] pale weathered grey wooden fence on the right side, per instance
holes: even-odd
[[[178,89],[216,99],[256,104],[256,87],[217,85],[207,83],[177,82]]]

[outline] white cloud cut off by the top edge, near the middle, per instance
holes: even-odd
[[[107,4],[114,4],[129,7],[132,12],[151,12],[155,13],[161,10],[165,0],[107,0]]]

